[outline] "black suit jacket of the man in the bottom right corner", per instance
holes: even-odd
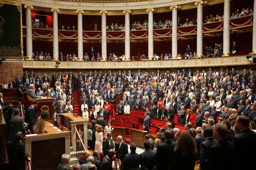
[[[250,155],[252,151],[256,151],[256,134],[250,129],[242,130],[236,137],[234,137],[233,144],[235,144],[236,155]],[[250,164],[244,162],[254,162],[253,156],[240,157],[235,164],[237,169],[251,169]]]

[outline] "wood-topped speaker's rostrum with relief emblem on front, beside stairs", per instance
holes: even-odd
[[[71,129],[71,145],[74,148],[74,152],[84,150],[82,145],[79,144],[79,138],[76,135],[76,129],[84,142],[85,149],[87,149],[87,123],[88,121],[80,116],[75,116],[72,113],[58,114],[58,123],[64,125],[68,129]]]

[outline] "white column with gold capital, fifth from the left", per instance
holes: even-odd
[[[130,13],[131,10],[125,10],[124,17],[125,17],[125,61],[130,60]]]

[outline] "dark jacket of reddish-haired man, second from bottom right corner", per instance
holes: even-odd
[[[229,142],[227,139],[219,140],[217,144],[212,145],[209,149],[207,159],[205,160],[206,169],[235,169],[235,164],[233,162],[234,158],[232,158],[230,155],[235,155],[235,145]]]

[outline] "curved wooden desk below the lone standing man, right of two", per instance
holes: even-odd
[[[142,130],[138,130],[138,129],[129,129],[130,130],[130,144],[131,143],[134,143],[136,144],[137,146],[140,146],[140,147],[144,147],[143,146],[143,142],[144,142],[144,137],[145,135],[148,134],[147,131],[142,131]]]

